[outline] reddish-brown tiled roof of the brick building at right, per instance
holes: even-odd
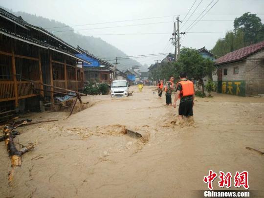
[[[243,47],[236,51],[230,52],[216,60],[216,64],[225,64],[240,61],[251,54],[254,54],[264,49],[264,41],[258,44],[252,44],[247,47]]]

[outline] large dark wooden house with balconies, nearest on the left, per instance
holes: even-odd
[[[38,109],[40,100],[53,102],[54,93],[43,89],[54,89],[42,83],[82,89],[82,65],[90,63],[76,53],[81,52],[0,8],[0,111]]]

